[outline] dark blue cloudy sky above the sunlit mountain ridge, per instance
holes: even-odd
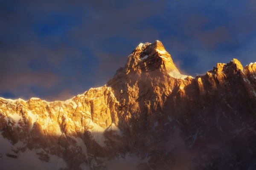
[[[68,99],[104,85],[140,42],[163,42],[180,71],[256,57],[255,0],[6,0],[0,96]]]

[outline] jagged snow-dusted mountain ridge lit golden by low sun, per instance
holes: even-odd
[[[0,98],[0,162],[6,169],[253,169],[255,74],[255,63],[243,68],[233,59],[192,78],[160,41],[140,44],[107,85],[72,99]],[[37,164],[25,166],[28,155]]]

